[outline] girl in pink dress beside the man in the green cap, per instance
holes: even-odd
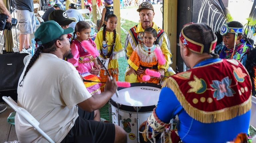
[[[73,58],[67,61],[72,63],[79,74],[86,80],[100,82],[97,76],[100,71],[100,65],[95,57],[90,55],[82,46],[81,41],[88,40],[96,48],[94,41],[90,39],[91,26],[85,21],[79,21],[75,25],[74,38],[70,45]],[[75,38],[76,35],[76,38]],[[91,94],[100,93],[100,83],[84,82],[85,87]]]

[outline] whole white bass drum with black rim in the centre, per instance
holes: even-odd
[[[128,143],[139,141],[139,126],[147,120],[156,107],[161,85],[153,83],[131,83],[129,88],[118,88],[110,99],[112,123],[127,132]]]

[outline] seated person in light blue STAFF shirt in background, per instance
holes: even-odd
[[[69,27],[72,27],[73,29],[78,21],[84,21],[82,14],[80,14],[80,12],[77,10],[77,6],[75,4],[70,4],[69,9],[66,10],[66,13],[69,18],[76,18],[75,22],[69,24]]]

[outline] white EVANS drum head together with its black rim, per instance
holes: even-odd
[[[148,109],[145,108],[139,111],[149,112],[153,111],[153,108],[155,108],[160,91],[161,86],[157,84],[132,83],[129,88],[118,89],[119,97],[114,94],[110,102],[114,106],[117,106],[117,103],[122,104],[121,107],[119,107],[121,110],[136,112],[133,107],[147,107]]]

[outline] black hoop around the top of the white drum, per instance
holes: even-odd
[[[162,88],[161,85],[154,84],[154,83],[131,83],[131,87],[139,87],[139,86],[154,87],[154,88],[159,88],[159,89]],[[117,90],[121,90],[121,89],[125,89],[125,88],[118,88]],[[129,105],[121,104],[121,107],[120,107],[120,103],[114,101],[112,98],[110,98],[110,104],[113,105],[114,107],[116,107],[117,109],[118,109],[117,104],[119,104],[119,110],[122,110],[122,111],[136,112],[136,110],[134,109],[134,107],[136,107],[136,106],[129,106]],[[141,106],[141,109],[138,112],[139,113],[140,112],[152,112],[155,107],[156,107],[156,105]]]

